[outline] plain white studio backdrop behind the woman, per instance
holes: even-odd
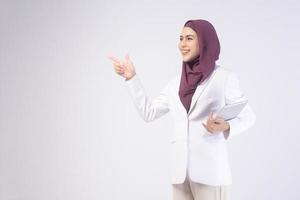
[[[297,1],[0,1],[0,200],[172,199],[169,114],[145,123],[107,55],[149,98],[181,72],[188,19],[216,28],[255,126],[229,142],[230,200],[299,199]]]

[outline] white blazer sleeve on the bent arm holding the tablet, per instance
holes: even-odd
[[[240,89],[238,76],[236,73],[230,72],[225,84],[225,103],[227,105],[244,100],[247,100],[247,98]],[[229,140],[232,136],[246,131],[254,124],[255,119],[256,116],[249,103],[247,103],[237,117],[227,120],[230,129],[224,132],[225,139]]]

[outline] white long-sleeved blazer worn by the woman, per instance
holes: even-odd
[[[183,183],[188,173],[192,181],[207,185],[232,184],[227,156],[227,141],[254,124],[255,114],[249,104],[234,119],[228,120],[230,132],[210,134],[203,127],[210,112],[224,105],[246,100],[237,75],[218,65],[198,85],[187,113],[180,101],[180,75],[172,78],[160,94],[148,99],[143,85],[135,75],[126,81],[135,107],[142,119],[153,121],[170,112],[174,119],[171,139],[171,182]]]

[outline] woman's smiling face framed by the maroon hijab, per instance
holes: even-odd
[[[194,60],[201,53],[197,33],[190,27],[183,27],[178,48],[184,62]]]

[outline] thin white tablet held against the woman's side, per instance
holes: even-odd
[[[240,112],[244,109],[244,107],[247,105],[248,100],[244,100],[241,102],[233,103],[224,106],[219,111],[214,113],[214,117],[221,117],[224,120],[230,120],[235,118],[240,114]]]

